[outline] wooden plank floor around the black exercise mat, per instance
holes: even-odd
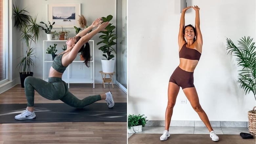
[[[114,101],[127,103],[127,94],[117,85],[102,88],[101,84],[70,84],[69,91],[82,99],[111,91]],[[97,102],[104,102],[100,100]],[[0,94],[0,104],[27,103],[24,88],[16,85]],[[36,103],[62,103],[48,100],[35,92]],[[0,117],[1,118],[1,117]],[[62,123],[8,123],[0,124],[0,144],[43,144],[43,143],[97,143],[126,144],[126,122],[62,122]]]

